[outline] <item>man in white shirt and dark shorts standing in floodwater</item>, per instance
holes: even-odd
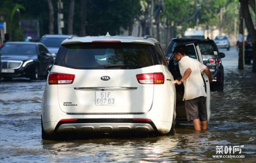
[[[194,123],[196,131],[206,130],[208,126],[206,97],[203,78],[201,73],[206,73],[209,82],[212,82],[212,75],[210,70],[199,62],[187,56],[187,47],[185,45],[178,45],[174,48],[176,61],[179,62],[181,72],[181,80],[175,80],[178,85],[184,83],[185,92],[183,101],[185,101],[186,116],[188,121]]]

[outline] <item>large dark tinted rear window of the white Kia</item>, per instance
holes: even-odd
[[[73,69],[139,69],[152,66],[154,47],[133,43],[79,43],[61,46],[55,64]]]

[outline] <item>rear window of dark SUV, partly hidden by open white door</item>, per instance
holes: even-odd
[[[172,51],[177,45],[188,43],[188,42],[191,42],[191,41],[186,41],[186,40],[172,41],[171,46],[168,47],[168,52],[167,52],[168,57],[172,55]],[[197,43],[199,44],[199,48],[202,55],[214,55],[214,51],[217,51],[217,48],[210,41],[197,41]]]

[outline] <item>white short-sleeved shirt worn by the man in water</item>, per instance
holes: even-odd
[[[183,101],[200,96],[207,97],[203,77],[201,76],[206,67],[206,65],[202,64],[198,60],[190,58],[189,56],[184,56],[181,58],[179,61],[181,76],[184,76],[187,69],[190,68],[192,70],[190,76],[183,83],[185,87]]]

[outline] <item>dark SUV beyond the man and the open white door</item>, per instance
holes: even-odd
[[[196,41],[199,44],[199,48],[201,50],[203,56],[203,63],[210,69],[212,73],[212,84],[211,90],[218,90],[223,91],[224,86],[224,69],[223,65],[221,64],[221,58],[225,57],[225,54],[219,52],[216,43],[214,43],[211,39],[183,39],[183,38],[176,38],[172,39],[169,43],[167,52],[166,52],[166,59],[169,62],[169,67],[174,63],[175,57],[172,55],[172,51],[177,45],[194,42]],[[173,63],[172,63],[173,62]],[[177,66],[178,69],[178,66]],[[181,77],[180,74],[173,74],[174,79]]]

